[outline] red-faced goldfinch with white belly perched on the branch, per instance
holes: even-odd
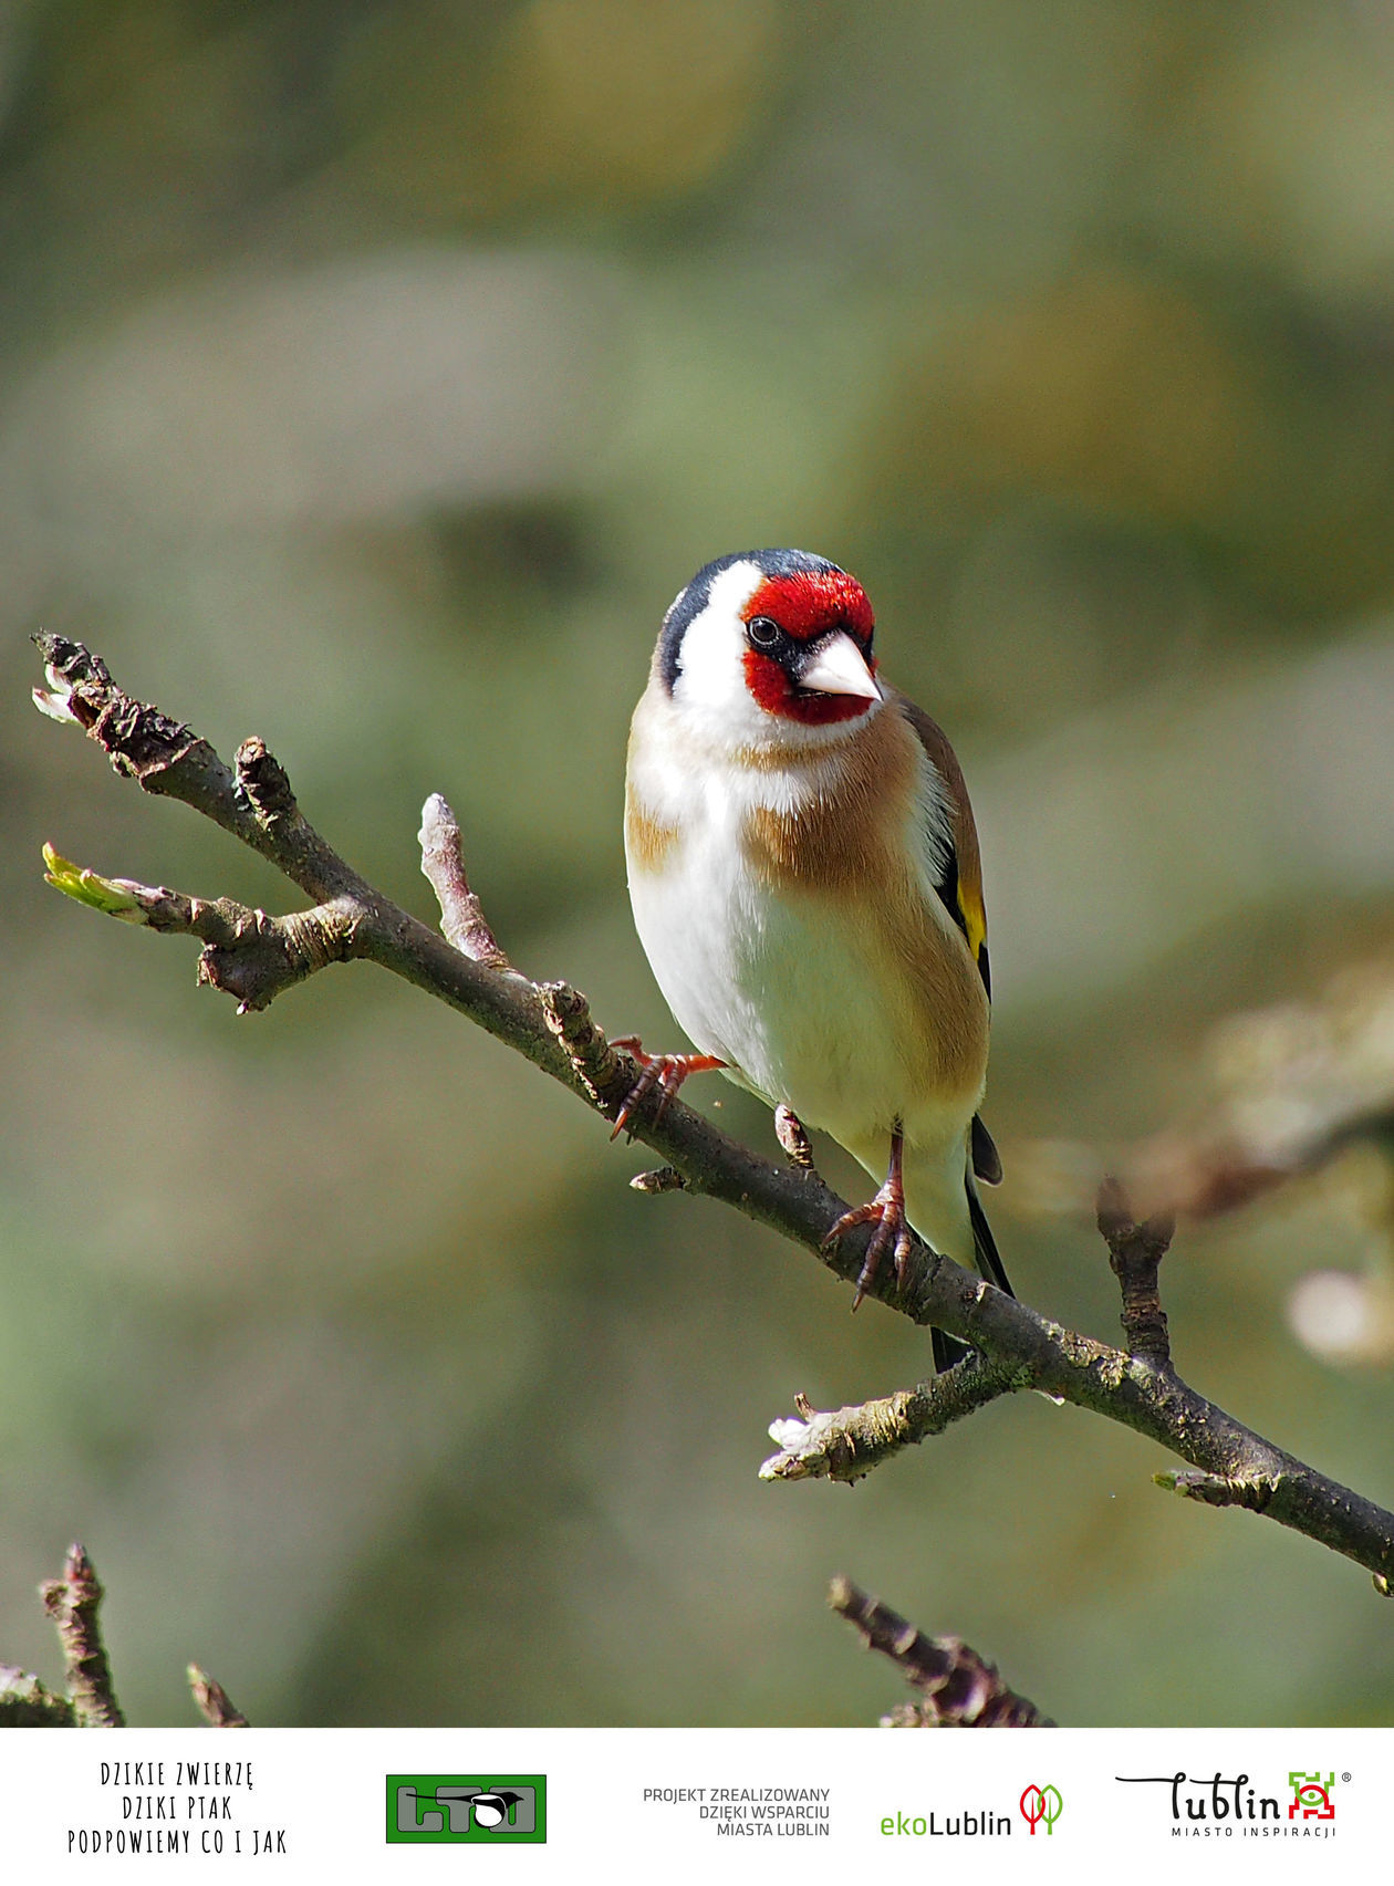
[[[655,979],[696,1052],[832,1135],[883,1183],[824,1245],[868,1241],[853,1309],[909,1228],[1011,1294],[979,1199],[1002,1164],[979,1107],[990,969],[964,775],[941,728],[881,679],[866,590],[807,551],[736,551],[668,609],[630,726],[624,852]],[[783,1135],[781,1135],[783,1137]],[[936,1364],[968,1350],[934,1332]]]

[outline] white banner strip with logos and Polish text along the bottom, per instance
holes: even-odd
[[[8,1877],[43,1880],[1351,1878],[1386,1865],[1392,1758],[1394,1729],[9,1729],[0,1803]]]

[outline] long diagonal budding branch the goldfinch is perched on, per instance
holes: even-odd
[[[315,907],[275,918],[226,900],[204,903],[123,879],[96,879],[74,866],[51,871],[58,888],[151,928],[158,928],[153,913],[170,917],[164,928],[187,930],[204,943],[200,977],[228,988],[243,1011],[264,1005],[330,962],[377,962],[509,1043],[606,1118],[619,1115],[638,1077],[636,1064],[609,1045],[585,998],[570,984],[532,983],[506,968],[507,958],[502,958],[468,888],[462,854],[451,849],[456,839],[441,830],[455,824],[441,800],[426,809],[432,828],[426,849],[434,854],[426,868],[432,885],[443,892],[447,924],[464,949],[373,890],[334,852],[300,813],[285,771],[262,741],[243,741],[236,766],[228,768],[183,722],[117,688],[106,664],[79,643],[55,636],[38,636],[36,641],[49,677],[49,688],[36,690],[45,713],[81,726],[113,768],[136,779],[145,792],[183,800],[270,858],[315,900]],[[91,894],[85,896],[83,888]],[[113,909],[113,900],[123,907]],[[141,915],[134,917],[136,911]],[[649,1096],[628,1130],[632,1139],[653,1147],[681,1175],[685,1190],[732,1205],[804,1247],[843,1282],[856,1284],[871,1232],[853,1232],[832,1250],[822,1250],[822,1239],[847,1205],[815,1171],[756,1158],[681,1100],[660,1109],[658,1096]],[[651,1188],[672,1184],[664,1177]],[[1328,1545],[1379,1579],[1394,1575],[1394,1514],[1303,1465],[1198,1396],[1170,1364],[1162,1365],[1154,1333],[1147,1348],[1130,1332],[1137,1354],[1124,1354],[1060,1328],[919,1239],[904,1269],[904,1284],[894,1267],[885,1266],[868,1294],[921,1326],[947,1330],[973,1345],[987,1358],[987,1371],[973,1364],[979,1373],[953,1388],[922,1384],[904,1399],[868,1403],[877,1413],[862,1411],[860,1428],[845,1420],[836,1445],[828,1430],[832,1450],[824,1448],[824,1454],[843,1469],[858,1458],[871,1464],[922,1433],[934,1433],[936,1422],[943,1424],[941,1416],[953,1420],[996,1394],[1034,1386],[1134,1428],[1203,1475],[1234,1486],[1262,1484],[1268,1518]],[[970,1364],[960,1364],[960,1369],[966,1367]],[[987,1388],[992,1392],[987,1394]],[[855,1416],[858,1411],[845,1413]],[[924,1422],[919,1435],[917,1422]],[[885,1443],[885,1435],[892,1445]],[[864,1452],[858,1454],[858,1447]],[[798,1454],[798,1448],[792,1452]]]

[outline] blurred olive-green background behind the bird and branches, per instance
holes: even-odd
[[[847,564],[979,811],[998,1239],[1111,1337],[1037,1143],[1200,1107],[1222,1017],[1394,928],[1394,6],[11,0],[0,336],[0,1658],[57,1679],[79,1537],[140,1722],[189,1658],[258,1724],[870,1722],[836,1571],[1064,1722],[1388,1718],[1364,1573],[1073,1409],[760,1484],[924,1341],[385,975],[236,1020],[58,900],[43,839],[292,892],[41,720],[25,637],[262,734],[421,915],[445,792],[515,960],[677,1045],[621,851],[658,619]],[[1388,1360],[1286,1307],[1386,1264],[1364,1196],[1166,1292],[1196,1386],[1390,1501]]]

